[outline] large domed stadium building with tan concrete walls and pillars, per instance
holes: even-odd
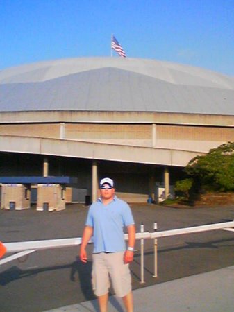
[[[234,141],[234,79],[133,58],[72,58],[0,71],[0,175],[78,178],[73,201],[110,176],[128,202]]]

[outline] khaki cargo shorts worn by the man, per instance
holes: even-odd
[[[110,279],[115,294],[124,297],[131,292],[129,265],[124,264],[124,252],[92,254],[92,286],[95,295],[108,293]]]

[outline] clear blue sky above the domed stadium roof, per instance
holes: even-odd
[[[0,70],[110,56],[113,33],[129,58],[234,76],[234,0],[0,0],[0,30]]]

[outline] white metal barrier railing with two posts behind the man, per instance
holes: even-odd
[[[169,237],[181,234],[191,234],[198,232],[212,231],[216,229],[224,229],[234,232],[234,220],[225,223],[215,223],[210,225],[199,225],[196,227],[184,227],[181,229],[167,229],[165,231],[157,232],[157,223],[154,223],[154,232],[144,232],[144,225],[140,225],[140,232],[136,233],[136,239],[140,240],[140,283],[144,283],[144,239],[154,239],[154,275],[158,276],[158,239],[162,237]],[[128,234],[124,235],[128,239]],[[90,241],[89,243],[92,243]],[[22,241],[17,243],[4,243],[6,253],[17,252],[6,258],[0,260],[0,265],[17,258],[31,254],[36,250],[45,250],[52,248],[64,248],[76,245],[81,245],[81,237],[74,237],[71,239],[50,239],[45,241]]]

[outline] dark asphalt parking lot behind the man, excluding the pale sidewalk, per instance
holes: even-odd
[[[153,232],[234,219],[234,207],[188,207],[175,209],[157,205],[131,205],[140,232]],[[58,212],[0,211],[3,242],[79,237],[83,232],[87,207],[68,205]],[[224,230],[183,234],[158,239],[158,277],[153,275],[153,240],[144,242],[144,279],[140,284],[140,242],[131,265],[133,288],[142,288],[226,268],[234,264],[234,234]],[[78,248],[44,250],[0,267],[0,306],[5,312],[45,311],[93,298],[90,287],[92,245],[87,265],[77,259]]]

